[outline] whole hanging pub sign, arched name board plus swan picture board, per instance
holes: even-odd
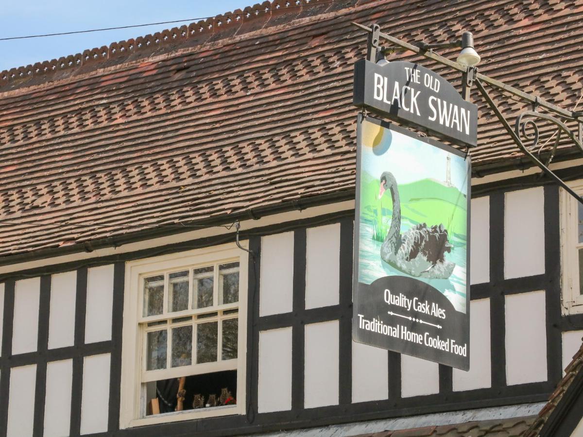
[[[476,145],[476,106],[422,66],[358,61],[354,104]],[[354,341],[468,370],[469,156],[359,114],[356,167]]]

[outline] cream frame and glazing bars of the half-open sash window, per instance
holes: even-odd
[[[241,245],[246,247],[246,242]],[[217,263],[239,262],[239,301],[237,304],[218,305],[209,308],[196,309],[194,312],[215,312],[230,308],[238,308],[238,343],[236,360],[220,361],[220,351],[213,363],[182,366],[178,368],[161,369],[145,372],[144,347],[145,336],[140,326],[149,318],[142,315],[142,286],[143,279],[162,273],[179,272],[188,270],[193,266],[215,265]],[[216,269],[215,269],[216,270]],[[124,297],[124,322],[122,332],[122,363],[121,363],[121,403],[120,403],[120,428],[138,427],[143,425],[161,424],[183,420],[193,420],[206,417],[218,417],[223,415],[245,414],[246,393],[246,357],[247,357],[247,272],[248,255],[234,244],[212,246],[209,248],[194,249],[192,251],[174,253],[171,255],[156,256],[135,260],[126,263],[125,270],[125,297]],[[165,276],[165,280],[167,275]],[[189,276],[189,289],[192,288],[192,277]],[[192,297],[189,297],[189,303]],[[164,308],[167,299],[164,300]],[[172,313],[172,318],[180,318],[188,312]],[[164,316],[166,317],[166,316]],[[219,317],[219,316],[217,316]],[[215,321],[217,317],[204,319],[205,322]],[[224,316],[224,319],[231,318]],[[187,323],[188,324],[188,323]],[[220,323],[219,323],[220,326]],[[148,330],[146,328],[146,330]],[[194,332],[193,332],[194,336]],[[220,337],[220,332],[219,332]],[[217,339],[220,341],[220,339]],[[195,369],[196,366],[196,369]],[[237,369],[237,404],[233,406],[209,407],[198,410],[185,410],[174,413],[162,413],[143,416],[144,390],[142,383],[147,380],[166,379],[177,376],[188,376],[201,373],[217,372],[226,369]],[[152,378],[142,379],[142,375],[148,373]],[[179,375],[180,373],[180,375]],[[154,378],[155,374],[155,378]]]

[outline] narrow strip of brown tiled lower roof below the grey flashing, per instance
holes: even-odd
[[[534,420],[535,416],[518,417],[441,425],[439,427],[399,429],[398,431],[383,431],[355,437],[518,437],[524,434]]]

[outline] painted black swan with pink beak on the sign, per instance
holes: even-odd
[[[397,181],[391,172],[381,175],[378,198],[390,190],[393,199],[391,227],[381,246],[381,259],[395,269],[415,277],[447,279],[455,264],[445,259],[451,252],[447,229],[443,224],[427,227],[417,224],[401,235],[401,203]]]

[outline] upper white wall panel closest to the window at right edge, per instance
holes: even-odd
[[[545,273],[544,203],[545,194],[542,187],[506,193],[504,209],[505,278],[519,278]]]

